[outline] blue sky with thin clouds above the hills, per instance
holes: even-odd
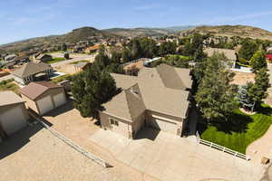
[[[271,0],[1,0],[0,44],[74,28],[247,24],[272,31]]]

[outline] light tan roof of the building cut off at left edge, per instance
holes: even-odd
[[[24,100],[13,91],[0,92],[0,106],[12,105],[21,102],[24,102]]]

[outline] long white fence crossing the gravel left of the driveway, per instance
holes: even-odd
[[[100,165],[102,167],[112,167],[110,164],[108,164],[104,160],[102,160],[102,158],[94,156],[92,153],[88,152],[84,148],[80,147],[79,145],[74,144],[71,139],[64,137],[62,134],[57,132],[55,129],[50,128],[50,126],[48,126],[46,123],[44,123],[44,121],[42,119],[40,119],[39,117],[34,115],[34,113],[32,113],[31,111],[30,111],[30,115],[34,119],[36,119],[39,123],[41,123],[45,129],[48,129],[55,137],[63,140],[64,143],[66,143],[67,145],[69,145],[70,147],[75,149],[76,151],[83,154],[83,156],[88,157],[89,159],[92,159],[92,161],[94,161],[95,163],[97,163],[98,165]]]

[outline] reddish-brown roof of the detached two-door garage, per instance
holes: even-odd
[[[34,100],[38,96],[44,93],[44,91],[53,89],[53,88],[60,88],[62,86],[54,84],[51,81],[36,81],[31,82],[24,88],[22,88],[20,91],[22,94],[24,94],[26,97]]]

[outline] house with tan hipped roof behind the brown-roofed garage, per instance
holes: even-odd
[[[46,81],[52,73],[53,68],[50,64],[34,62],[28,62],[20,69],[12,72],[15,76],[15,81],[22,85],[31,81]]]

